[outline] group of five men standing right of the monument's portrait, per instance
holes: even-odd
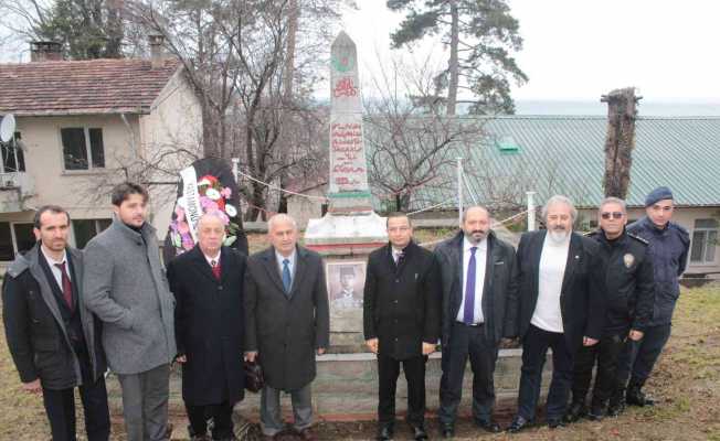
[[[573,230],[578,212],[572,202],[555,195],[542,208],[547,229],[523,234],[517,252],[490,229],[484,207],[468,208],[462,230],[432,254],[413,243],[406,215],[391,214],[390,243],[370,255],[364,287],[364,335],[378,354],[377,439],[393,438],[401,363],[407,380],[406,421],[416,440],[428,437],[424,365],[438,338],[443,438],[455,434],[468,358],[473,420],[486,431],[501,430],[493,419],[493,376],[499,347],[517,341],[522,367],[518,410],[508,432],[536,422],[549,348],[549,427],[584,416],[616,416],[626,404],[652,405],[642,388],[670,334],[689,236],[670,222],[669,189],[653,191],[645,202],[647,216],[626,227],[625,202],[603,200],[597,230],[583,236]]]

